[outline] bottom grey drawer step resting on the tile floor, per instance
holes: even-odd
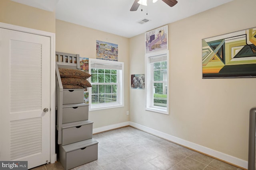
[[[60,145],[60,162],[65,170],[98,159],[98,142],[88,139],[70,145]]]

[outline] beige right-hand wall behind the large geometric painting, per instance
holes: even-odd
[[[130,90],[130,121],[248,159],[249,110],[256,78],[202,79],[202,39],[255,24],[255,0],[234,0],[168,24],[169,115],[144,110],[144,92]],[[130,73],[144,73],[144,34],[130,39]]]

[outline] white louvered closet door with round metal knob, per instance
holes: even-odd
[[[0,28],[0,81],[0,160],[50,162],[50,37]]]

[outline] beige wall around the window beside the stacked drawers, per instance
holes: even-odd
[[[124,107],[89,111],[93,128],[129,121],[129,39],[80,25],[56,20],[56,51],[96,58],[96,40],[118,44],[118,61],[124,62]]]

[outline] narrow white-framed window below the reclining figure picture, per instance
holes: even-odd
[[[146,110],[168,114],[169,53],[146,55]]]

